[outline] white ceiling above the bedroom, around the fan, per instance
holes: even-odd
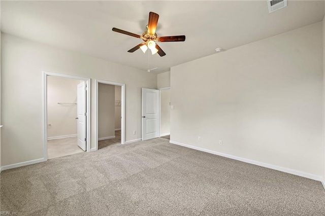
[[[323,1],[290,1],[269,14],[267,1],[1,1],[1,31],[32,41],[148,69],[141,39],[149,12],[159,14],[158,36],[186,35],[185,42],[159,43],[166,56],[150,56],[150,68],[169,70],[215,53],[319,22]],[[154,70],[153,70],[154,71]]]

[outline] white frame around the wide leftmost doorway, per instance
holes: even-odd
[[[87,107],[87,131],[86,131],[86,150],[90,152],[90,79],[84,77],[70,76],[66,74],[57,74],[43,71],[43,134],[44,134],[44,161],[47,161],[47,76],[69,78],[74,80],[83,80],[87,84],[86,107]]]

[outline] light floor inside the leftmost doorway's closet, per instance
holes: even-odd
[[[47,158],[58,158],[84,152],[77,145],[77,136],[47,140]]]

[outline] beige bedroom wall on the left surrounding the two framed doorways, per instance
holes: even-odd
[[[2,166],[43,158],[42,71],[90,78],[91,98],[95,79],[125,83],[125,140],[141,138],[141,90],[157,88],[155,74],[9,34],[2,34],[1,43]],[[95,114],[91,99],[91,148],[95,148]]]

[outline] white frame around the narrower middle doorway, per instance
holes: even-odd
[[[91,149],[92,151],[98,150],[98,85],[99,83],[108,84],[113,86],[121,86],[121,144],[125,143],[125,84],[124,83],[117,83],[111,82],[106,80],[95,80],[96,82],[96,95],[95,95],[95,112],[96,112],[96,124],[95,124],[95,131],[96,131],[96,148]]]

